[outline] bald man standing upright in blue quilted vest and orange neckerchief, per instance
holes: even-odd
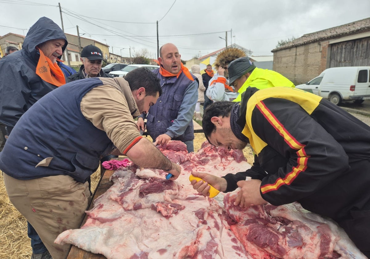
[[[165,144],[180,140],[188,152],[194,151],[193,114],[198,101],[198,78],[181,63],[181,55],[172,43],[159,49],[159,65],[153,71],[160,80],[162,95],[146,114],[147,131],[153,141]],[[145,114],[138,118],[139,129],[144,130]]]

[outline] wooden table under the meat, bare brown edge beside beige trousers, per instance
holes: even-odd
[[[123,160],[125,159],[125,157],[119,157],[119,158],[114,158],[114,159]],[[93,202],[95,201],[95,199],[98,198],[100,195],[104,194],[104,192],[106,192],[113,185],[113,182],[110,182],[109,178],[114,173],[114,171],[115,170],[104,170],[103,172],[101,172],[102,177],[100,178],[97,188],[95,189],[95,192],[92,195],[92,201],[88,207],[88,210],[94,207]],[[85,215],[84,221],[82,222],[81,226],[85,224],[86,219],[87,219],[87,215]],[[71,250],[67,256],[67,259],[104,259],[104,258],[106,259],[104,255],[87,252],[74,245],[71,246]]]

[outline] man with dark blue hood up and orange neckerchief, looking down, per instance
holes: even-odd
[[[57,58],[67,44],[61,28],[47,17],[41,17],[28,31],[22,49],[0,60],[0,122],[6,125],[8,135],[36,101],[65,84]],[[29,223],[28,236],[31,258],[51,258]]]

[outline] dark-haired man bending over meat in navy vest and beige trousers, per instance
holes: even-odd
[[[0,153],[4,183],[53,258],[68,253],[69,245],[54,240],[80,227],[91,198],[86,180],[100,158],[125,154],[138,166],[179,176],[180,167],[142,138],[134,121],[161,93],[159,79],[146,68],[124,79],[77,80],[45,95],[15,125]]]

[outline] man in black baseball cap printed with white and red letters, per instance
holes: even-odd
[[[94,45],[88,45],[83,48],[81,51],[81,61],[82,65],[80,70],[70,75],[67,78],[67,83],[83,78],[90,78],[90,77],[111,77],[112,76],[108,73],[104,73],[101,69],[103,63],[103,53],[100,48]]]

